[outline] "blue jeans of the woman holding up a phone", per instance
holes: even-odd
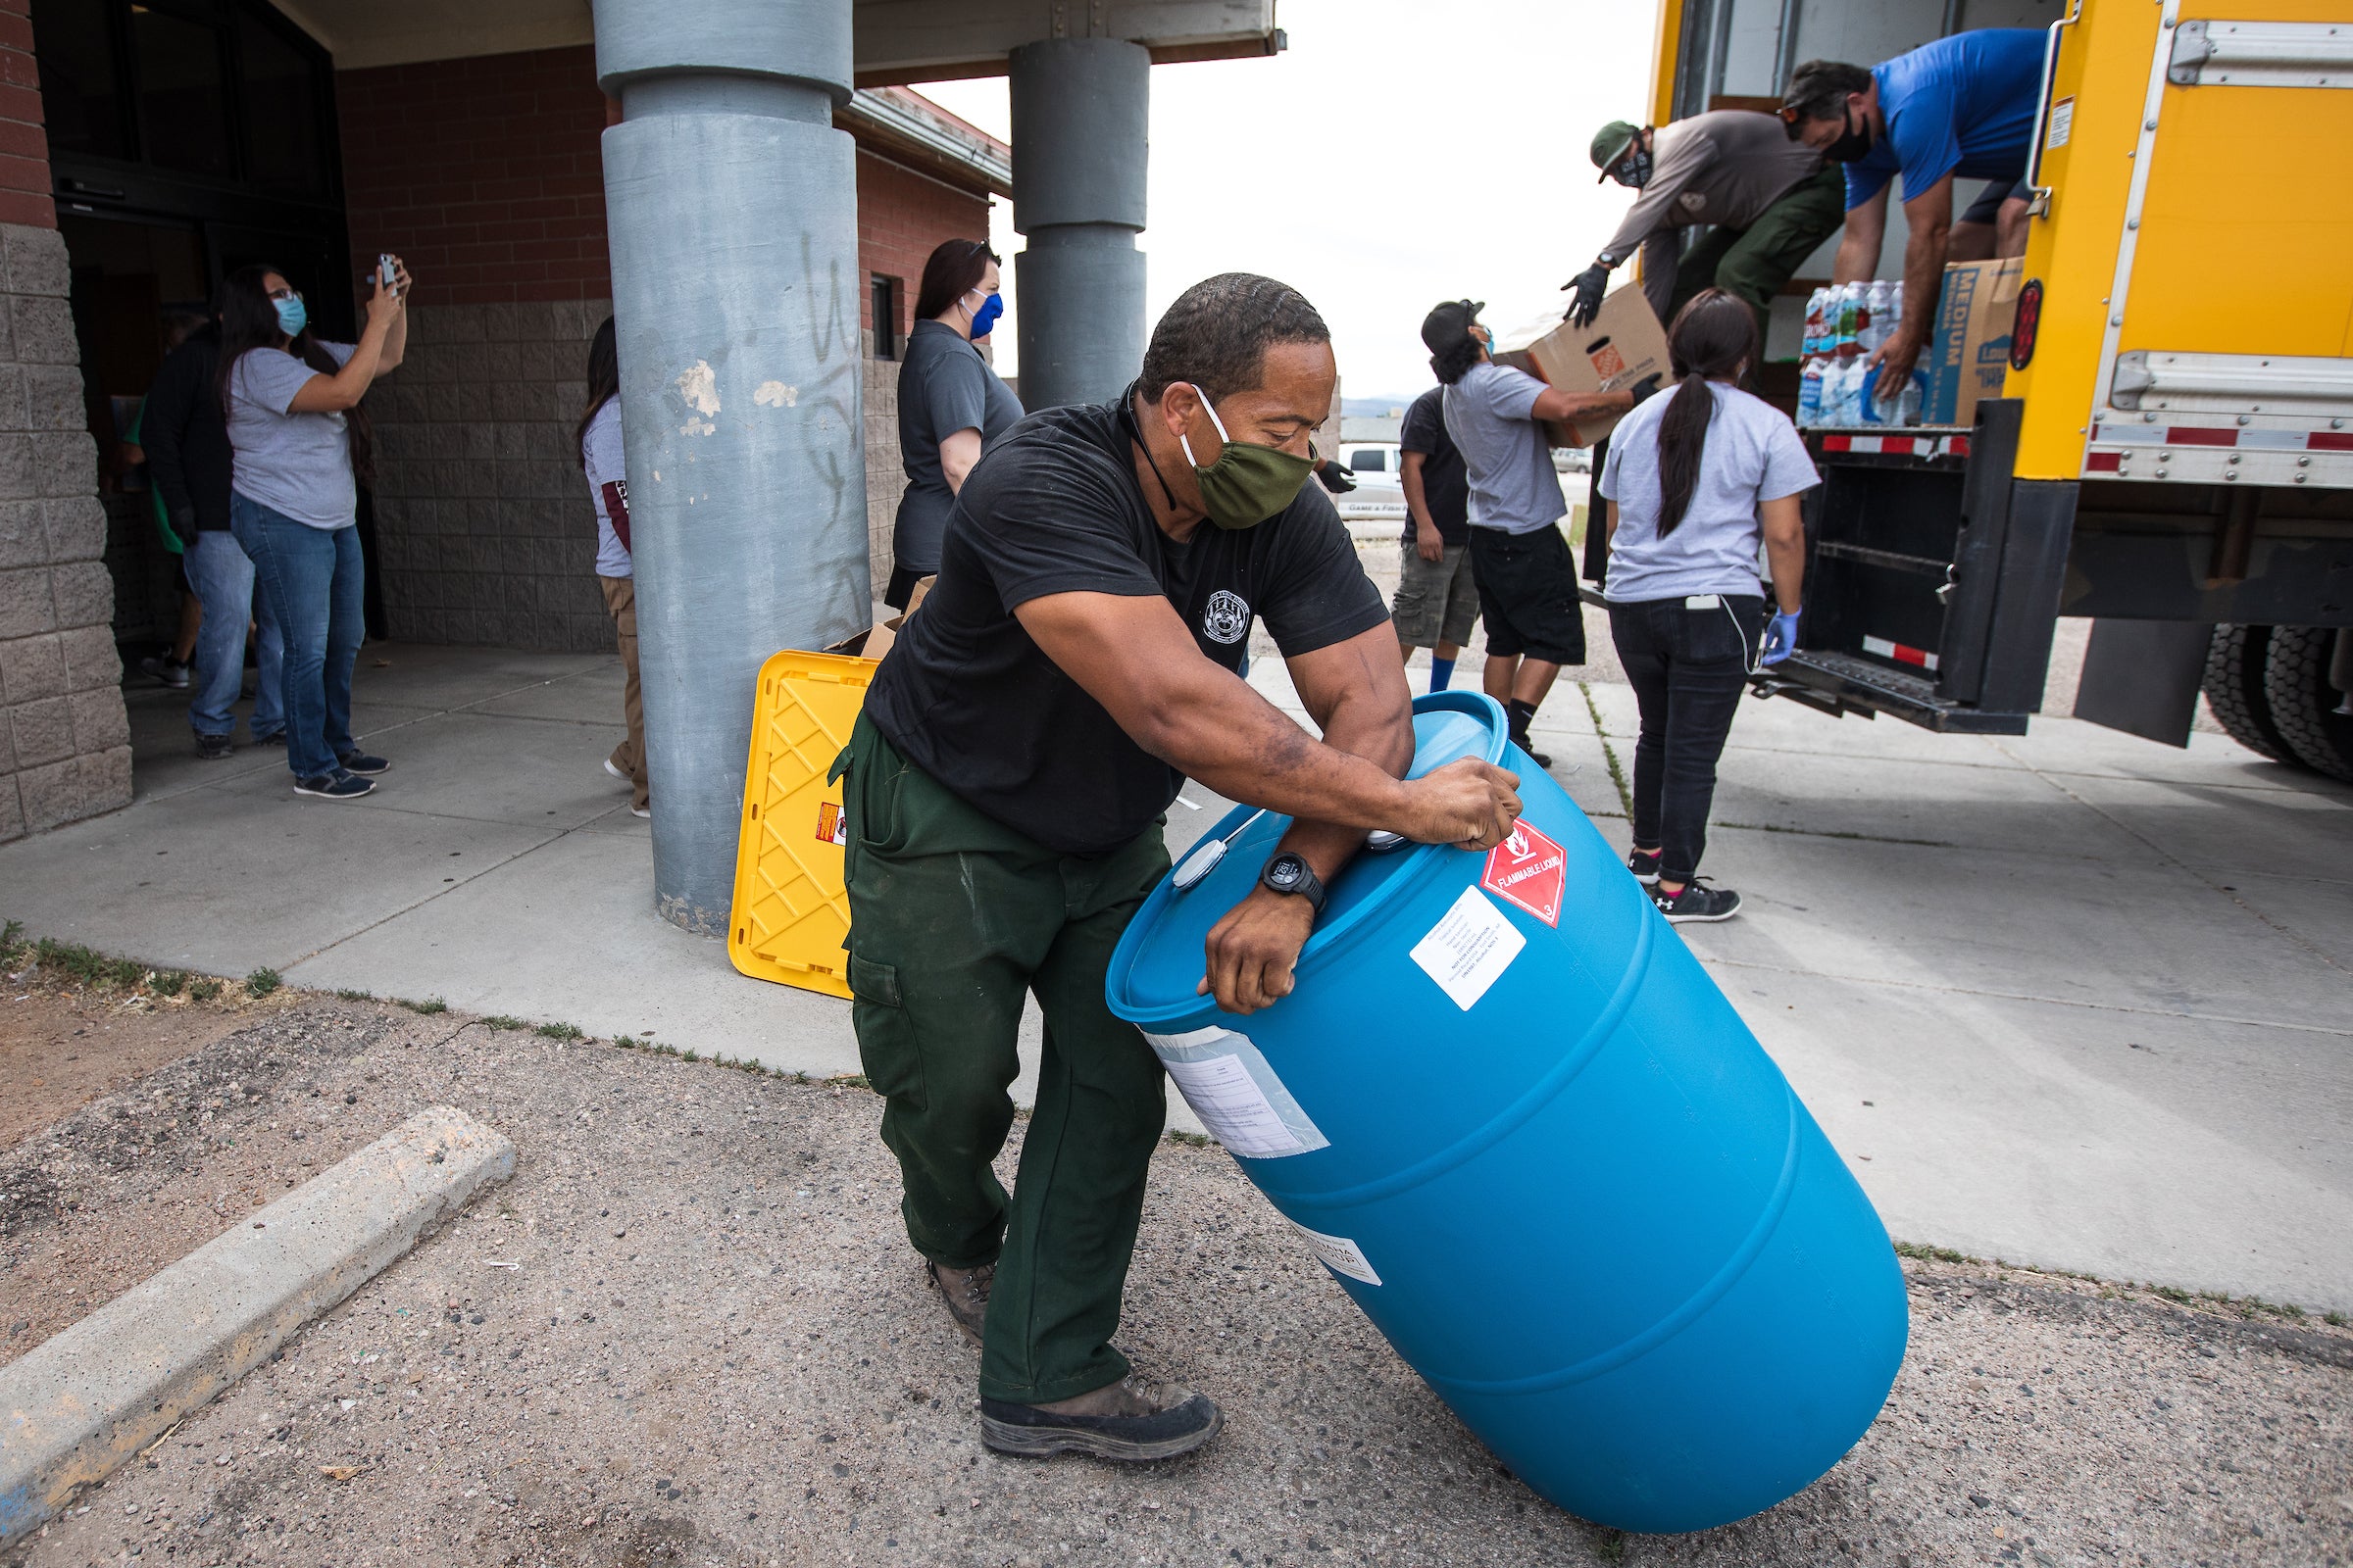
[[[228,494],[228,527],[254,559],[254,588],[285,637],[287,766],[334,773],[351,743],[351,665],[360,658],[360,531],[313,529]]]

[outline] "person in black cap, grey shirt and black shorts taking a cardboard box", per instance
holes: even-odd
[[[1494,334],[1480,324],[1487,306],[1452,299],[1431,306],[1421,343],[1445,388],[1447,435],[1471,477],[1471,576],[1487,623],[1480,686],[1511,715],[1513,743],[1551,766],[1527,726],[1560,677],[1586,663],[1586,618],[1577,599],[1577,559],[1560,536],[1567,505],[1546,418],[1621,414],[1657,390],[1652,376],[1624,393],[1562,393],[1489,357]]]

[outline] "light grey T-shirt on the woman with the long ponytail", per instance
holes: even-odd
[[[1708,440],[1699,449],[1692,505],[1675,531],[1659,538],[1659,421],[1673,393],[1668,386],[1645,400],[1609,433],[1600,494],[1617,503],[1609,578],[1602,588],[1612,604],[1755,592],[1758,545],[1765,538],[1758,505],[1821,484],[1788,414],[1711,381],[1715,414],[1708,416]]]

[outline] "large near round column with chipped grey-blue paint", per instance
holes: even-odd
[[[654,905],[727,931],[758,670],[868,623],[849,0],[595,0]]]

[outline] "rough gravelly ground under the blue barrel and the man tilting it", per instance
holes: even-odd
[[[0,1354],[431,1103],[504,1128],[515,1180],[12,1568],[2353,1556],[2353,1333],[1932,1260],[1906,1265],[1894,1399],[1831,1476],[1708,1535],[1593,1528],[1501,1474],[1184,1145],[1122,1342],[1224,1401],[1226,1434],[1144,1472],[1000,1460],[873,1095],[327,997],[252,1004],[0,1152]]]

